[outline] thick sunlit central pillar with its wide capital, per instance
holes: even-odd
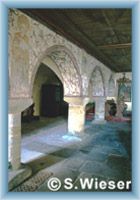
[[[72,134],[82,132],[85,125],[85,105],[88,99],[65,97],[64,100],[69,103],[68,132]]]

